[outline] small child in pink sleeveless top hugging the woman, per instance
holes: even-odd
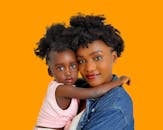
[[[70,39],[62,35],[65,29],[62,24],[52,25],[35,49],[37,56],[46,59],[48,72],[55,79],[48,86],[36,130],[62,129],[77,114],[78,99],[99,97],[110,89],[129,81],[128,77],[122,76],[100,87],[75,87],[73,84],[78,77],[78,64],[68,44]]]

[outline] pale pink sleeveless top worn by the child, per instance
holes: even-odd
[[[37,126],[62,128],[67,123],[70,123],[73,117],[77,114],[77,99],[73,98],[69,108],[66,110],[63,110],[58,106],[55,98],[55,91],[59,85],[61,85],[61,83],[57,83],[56,81],[52,81],[49,84],[47,95],[38,116]]]

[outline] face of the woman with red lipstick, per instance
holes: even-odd
[[[116,52],[101,40],[88,44],[88,48],[80,47],[77,50],[79,71],[92,87],[112,79],[112,65],[116,58]]]

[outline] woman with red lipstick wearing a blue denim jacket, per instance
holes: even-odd
[[[90,87],[117,79],[112,68],[124,50],[119,31],[104,16],[78,15],[70,19],[66,35],[72,38],[79,71]],[[99,98],[87,99],[77,130],[133,130],[133,104],[123,87]]]

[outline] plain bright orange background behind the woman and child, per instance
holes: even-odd
[[[125,40],[115,65],[131,76],[136,130],[161,130],[163,118],[161,0],[5,0],[0,2],[0,129],[32,130],[51,78],[36,42],[52,23],[82,12],[104,14]]]

